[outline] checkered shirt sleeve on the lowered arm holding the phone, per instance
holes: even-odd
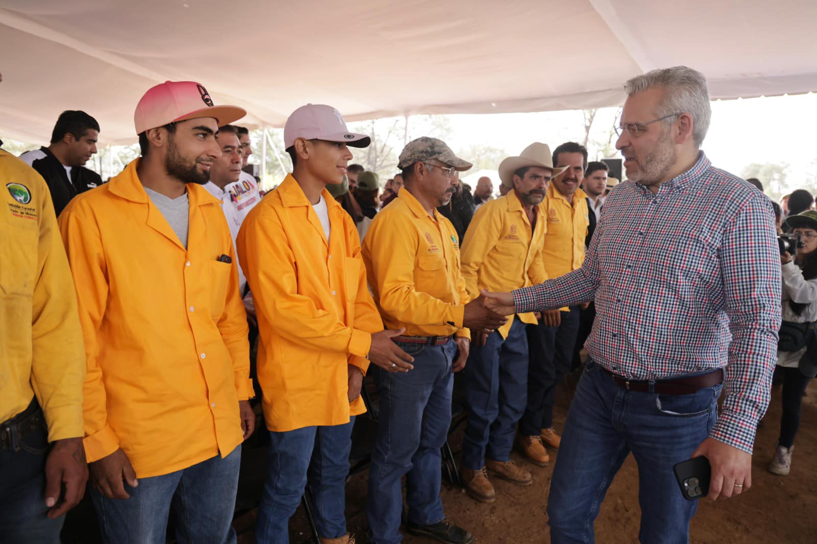
[[[782,280],[774,217],[769,199],[757,194],[730,221],[719,252],[732,341],[711,436],[747,453],[769,405],[777,360]]]

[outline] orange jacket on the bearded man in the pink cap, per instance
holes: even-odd
[[[59,223],[85,337],[88,461],[122,448],[146,478],[241,444],[239,400],[252,381],[221,201],[187,184],[185,249],[145,193],[140,160],[71,200]]]

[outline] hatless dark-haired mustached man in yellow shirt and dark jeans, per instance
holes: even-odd
[[[562,144],[553,151],[553,163],[561,173],[547,188],[547,234],[542,259],[548,278],[581,267],[590,224],[587,194],[579,189],[587,168],[587,149],[572,141]],[[559,448],[560,437],[553,429],[553,404],[556,387],[573,362],[578,324],[579,305],[574,304],[543,311],[538,325],[527,331],[528,405],[520,419],[516,444],[535,465],[550,461],[542,443]]]

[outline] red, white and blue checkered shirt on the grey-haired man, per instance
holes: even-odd
[[[605,200],[582,268],[513,292],[517,312],[596,300],[587,354],[633,380],[725,366],[712,438],[752,453],[780,327],[769,198],[698,161],[653,194],[625,181]]]

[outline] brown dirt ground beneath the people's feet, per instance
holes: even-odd
[[[560,391],[556,407],[556,430],[564,424],[568,395]],[[757,432],[755,454],[752,458],[752,489],[740,497],[710,504],[701,501],[698,514],[692,520],[691,542],[694,544],[721,544],[726,542],[785,542],[787,544],[815,544],[817,542],[817,386],[812,382],[803,399],[801,429],[788,476],[776,476],[766,470],[775,450],[779,431],[780,387],[772,391],[772,401],[766,417]],[[462,444],[462,426],[452,435],[450,444],[459,459]],[[534,485],[520,488],[499,479],[493,479],[497,501],[490,505],[475,502],[445,478],[442,489],[446,515],[454,523],[474,534],[474,542],[481,544],[502,542],[523,544],[550,542],[547,530],[548,486],[551,466],[540,468],[523,461],[514,453],[516,462],[524,464],[534,475]],[[365,497],[368,472],[350,479],[346,488],[346,518],[351,532],[356,533],[358,544],[368,542],[366,537]],[[596,542],[621,544],[637,542],[641,511],[638,506],[638,472],[632,456],[609,488],[598,519]],[[239,544],[251,544],[255,511],[236,520]],[[301,508],[290,523],[291,542],[310,542],[309,527]],[[406,536],[406,544],[431,542]]]

